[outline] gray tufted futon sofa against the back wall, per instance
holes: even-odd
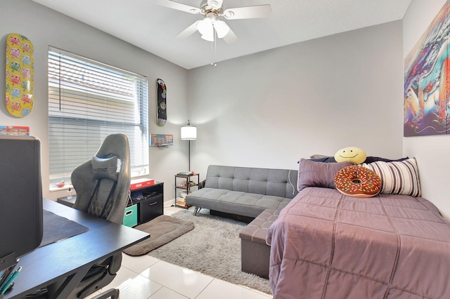
[[[297,195],[297,171],[210,165],[205,187],[188,194],[186,204],[257,218],[266,208],[281,210]]]

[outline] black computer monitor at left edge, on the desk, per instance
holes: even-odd
[[[0,271],[41,243],[41,142],[0,135]]]

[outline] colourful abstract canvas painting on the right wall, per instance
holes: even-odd
[[[450,134],[450,4],[404,61],[404,136]]]

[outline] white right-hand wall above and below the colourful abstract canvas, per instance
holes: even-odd
[[[403,20],[404,58],[435,18],[445,0],[413,0]],[[403,138],[405,156],[416,157],[422,196],[450,218],[450,136],[432,135]]]

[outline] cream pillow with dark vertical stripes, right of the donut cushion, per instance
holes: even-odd
[[[371,164],[363,163],[361,166],[375,171],[380,176],[383,183],[380,193],[411,197],[420,197],[422,194],[416,158],[396,162],[376,161]]]

